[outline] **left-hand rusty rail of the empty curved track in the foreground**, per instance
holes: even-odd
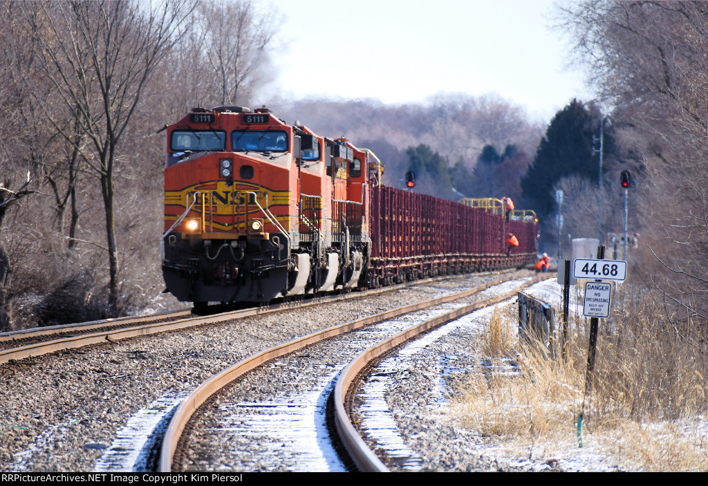
[[[523,275],[518,275],[522,272],[515,273],[516,274],[513,276],[500,277],[498,279],[494,279],[493,282],[482,284],[478,287],[474,287],[474,289],[468,289],[466,291],[458,292],[457,294],[450,294],[428,301],[413,303],[408,306],[391,309],[389,311],[384,311],[373,316],[367,316],[365,318],[352,320],[348,323],[335,325],[331,328],[326,328],[318,332],[313,332],[310,335],[299,337],[282,345],[278,345],[270,349],[265,349],[264,351],[258,352],[256,354],[252,354],[250,357],[242,359],[233,366],[230,366],[229,368],[224,369],[220,373],[215,374],[207,381],[202,383],[200,386],[198,386],[192,393],[190,393],[187,398],[185,398],[185,400],[181,403],[181,405],[179,405],[175,414],[170,420],[169,426],[166,429],[164,439],[162,441],[159,460],[159,471],[162,473],[171,472],[175,452],[177,450],[177,446],[184,432],[184,429],[187,426],[187,423],[189,422],[192,415],[199,409],[199,407],[204,404],[212,395],[215,395],[215,393],[224,388],[224,386],[227,386],[229,383],[232,383],[232,381],[240,378],[241,376],[244,376],[244,374],[248,373],[249,371],[256,369],[258,366],[261,366],[261,364],[265,363],[266,361],[282,357],[285,354],[295,352],[299,349],[302,349],[303,347],[307,347],[316,342],[324,341],[326,339],[329,339],[330,337],[336,337],[339,335],[346,334],[346,332],[362,328],[365,325],[371,325],[382,322],[384,320],[390,320],[405,313],[419,311],[423,308],[440,305],[441,303],[447,303],[450,301],[455,301],[457,299],[464,299],[464,297],[476,294],[477,292],[492,287],[494,285],[501,284],[514,278],[523,277]]]

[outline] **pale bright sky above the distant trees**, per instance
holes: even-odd
[[[593,95],[550,30],[553,0],[271,0],[280,17],[268,94],[421,102],[496,93],[549,120]]]

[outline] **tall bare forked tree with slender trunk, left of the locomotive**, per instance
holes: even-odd
[[[118,302],[115,236],[117,148],[147,81],[178,40],[194,4],[166,0],[67,1],[23,4],[40,69],[72,113],[75,125],[47,112],[52,127],[82,154],[98,177],[105,209],[109,305]],[[76,134],[81,134],[77,139]],[[82,142],[86,137],[88,144]]]

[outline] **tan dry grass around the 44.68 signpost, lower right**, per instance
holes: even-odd
[[[515,308],[495,312],[481,349],[488,357],[518,353],[520,374],[473,373],[453,402],[454,417],[503,444],[511,458],[550,460],[578,451],[575,422],[584,407],[585,443],[617,468],[708,470],[708,427],[701,423],[708,412],[704,341],[695,325],[681,330],[661,317],[641,317],[661,316],[649,311],[633,308],[607,320],[612,327],[601,329],[587,397],[584,319],[572,323],[568,361],[562,362],[507,338],[517,326]]]

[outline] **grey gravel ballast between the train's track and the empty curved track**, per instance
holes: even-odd
[[[0,470],[154,470],[142,453],[152,447],[153,437],[162,436],[159,430],[166,419],[157,418],[160,424],[141,421],[169,415],[225,366],[332,323],[469,289],[499,275],[418,281],[362,299],[340,296],[319,306],[282,308],[139,339],[105,340],[102,345],[2,364]],[[307,360],[307,352],[295,355],[296,362]],[[293,376],[299,376],[298,366]],[[137,459],[127,452],[127,444],[135,442],[136,422],[144,440]]]

